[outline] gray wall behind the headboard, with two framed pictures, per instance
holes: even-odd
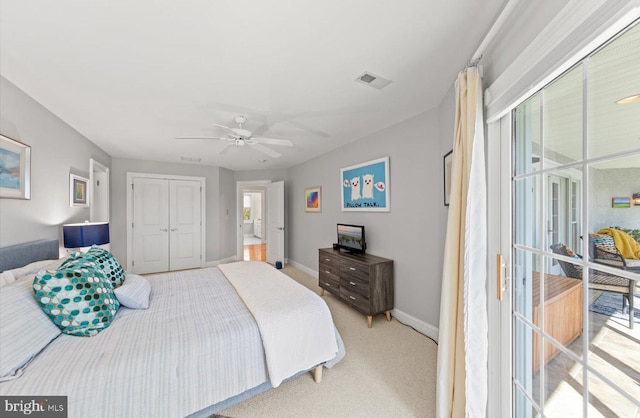
[[[89,208],[69,206],[69,174],[89,178],[90,158],[111,157],[4,77],[0,92],[0,133],[31,146],[31,200],[0,199],[0,247],[62,245],[62,224],[89,220]]]

